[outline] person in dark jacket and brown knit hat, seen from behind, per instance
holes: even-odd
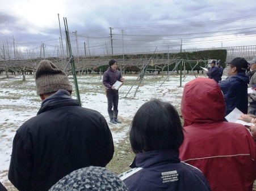
[[[36,90],[41,108],[15,134],[11,183],[18,190],[48,190],[74,170],[105,167],[114,144],[104,116],[71,98],[68,76],[49,60],[37,67]]]

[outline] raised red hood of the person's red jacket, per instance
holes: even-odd
[[[213,123],[224,120],[225,101],[216,81],[198,77],[184,86],[181,112],[184,127],[193,123]]]

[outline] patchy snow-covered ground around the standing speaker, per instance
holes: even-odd
[[[182,75],[182,79],[179,75],[167,77],[166,75],[145,75],[138,88],[140,80],[137,80],[137,75],[124,75],[125,83],[119,89],[119,119],[123,123],[108,123],[116,145],[129,131],[129,125],[137,109],[151,98],[170,102],[178,111],[180,110],[183,86],[195,79],[195,75],[186,77]],[[24,121],[36,115],[41,103],[36,95],[33,75],[27,75],[26,78],[27,81],[24,82],[21,76],[11,76],[9,79],[0,76],[0,181],[7,186],[10,185],[7,174],[15,132]],[[72,76],[70,81],[73,83]],[[99,111],[109,121],[102,76],[78,76],[77,81],[82,107]]]

